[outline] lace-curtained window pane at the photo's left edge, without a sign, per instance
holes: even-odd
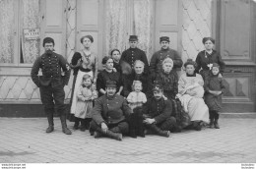
[[[14,62],[15,0],[0,1],[0,63]]]

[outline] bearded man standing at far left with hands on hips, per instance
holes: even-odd
[[[68,84],[70,77],[68,63],[63,56],[53,52],[54,40],[51,37],[45,37],[42,45],[45,52],[34,61],[31,76],[32,82],[40,89],[41,102],[48,119],[49,127],[46,129],[46,133],[54,131],[53,113],[55,103],[57,113],[60,115],[62,132],[71,135],[71,131],[66,124],[66,106],[64,104],[64,85]],[[42,71],[40,77],[38,77],[39,69]],[[64,76],[61,76],[61,69],[65,74]]]

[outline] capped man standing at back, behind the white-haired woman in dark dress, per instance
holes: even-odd
[[[170,58],[173,61],[173,69],[181,68],[183,62],[178,55],[177,51],[169,48],[169,37],[161,36],[160,37],[160,51],[153,54],[150,64],[150,70],[153,75],[158,75],[161,70],[161,62],[165,58]]]

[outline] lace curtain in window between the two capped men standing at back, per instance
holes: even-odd
[[[153,0],[134,0],[134,34],[138,35],[138,47],[151,58],[153,54]]]

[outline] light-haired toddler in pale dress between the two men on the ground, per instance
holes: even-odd
[[[147,102],[147,97],[142,90],[142,82],[134,81],[133,82],[133,91],[127,96],[127,101],[130,103],[130,107],[133,110],[136,107],[142,106]]]

